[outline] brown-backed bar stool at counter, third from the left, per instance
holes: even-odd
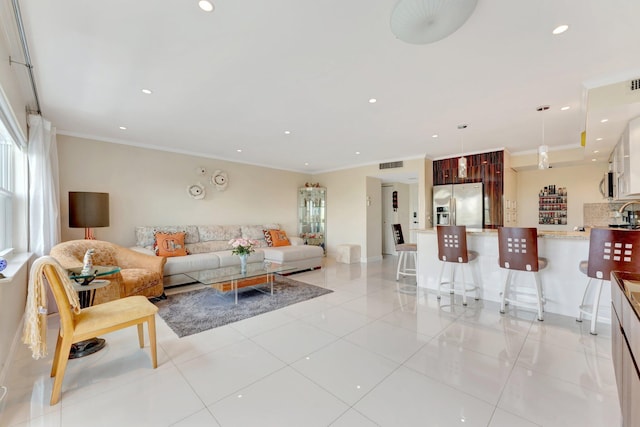
[[[538,320],[543,320],[544,296],[542,293],[542,283],[538,270],[547,266],[547,260],[538,258],[538,229],[523,227],[500,227],[498,228],[498,264],[507,270],[502,287],[502,299],[500,303],[500,313],[505,312],[507,303],[531,307],[528,302],[510,299],[508,293],[511,291],[513,272],[523,271],[533,274],[535,282],[535,307],[538,311]]]

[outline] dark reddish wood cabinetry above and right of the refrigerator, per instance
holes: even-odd
[[[503,225],[504,152],[470,154],[467,177],[458,178],[458,158],[434,160],[433,185],[482,182],[484,187],[484,228]]]

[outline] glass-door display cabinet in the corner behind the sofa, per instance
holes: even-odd
[[[298,189],[298,234],[306,245],[326,250],[327,189],[302,187]]]

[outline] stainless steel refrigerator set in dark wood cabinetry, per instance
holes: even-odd
[[[434,225],[466,225],[467,228],[482,228],[483,200],[481,182],[434,185]]]

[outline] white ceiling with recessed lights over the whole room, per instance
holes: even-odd
[[[395,0],[214,3],[22,0],[43,115],[59,133],[317,173],[533,151],[548,104],[553,164],[585,128],[585,161],[606,159],[628,118],[587,127],[586,89],[640,77],[637,0],[479,0],[429,45],[393,36]]]

